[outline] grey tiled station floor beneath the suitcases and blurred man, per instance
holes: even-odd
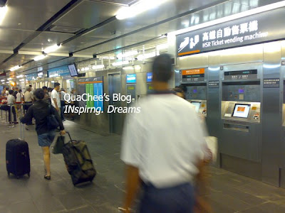
[[[73,138],[88,142],[98,171],[93,184],[73,187],[62,155],[51,155],[51,181],[43,179],[43,160],[36,133],[30,128],[25,139],[31,157],[31,178],[8,178],[5,145],[19,137],[19,125],[0,124],[0,213],[118,212],[123,200],[124,166],[120,161],[120,136],[99,136],[66,121]],[[285,212],[285,190],[228,171],[209,168],[211,185],[207,197],[216,213]]]

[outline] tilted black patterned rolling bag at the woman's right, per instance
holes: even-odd
[[[71,135],[68,133],[71,138]],[[63,158],[66,163],[68,173],[71,175],[73,185],[81,182],[92,182],[96,175],[96,170],[91,160],[86,142],[74,141],[71,139],[63,146]]]

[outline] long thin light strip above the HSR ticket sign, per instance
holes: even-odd
[[[196,30],[201,29],[201,28],[207,28],[209,26],[214,26],[214,25],[219,24],[219,23],[224,23],[224,22],[232,21],[232,20],[235,20],[235,19],[238,19],[238,18],[243,18],[243,17],[246,17],[246,16],[252,16],[252,15],[257,14],[257,13],[263,13],[263,12],[266,12],[266,11],[279,9],[281,7],[284,7],[284,6],[285,6],[285,1],[279,1],[279,2],[276,2],[274,4],[268,4],[266,6],[260,6],[258,8],[255,8],[255,9],[252,9],[252,10],[249,10],[249,11],[244,11],[242,13],[237,13],[237,14],[234,14],[234,15],[231,15],[231,16],[218,18],[218,19],[215,19],[213,21],[208,21],[208,22],[205,22],[205,23],[197,24],[197,25],[191,26],[189,28],[184,28],[184,29],[181,29],[181,30],[178,30],[178,31],[173,31],[171,33],[167,33],[167,35],[178,35],[178,34],[187,33],[187,32],[190,32],[190,31],[196,31]]]

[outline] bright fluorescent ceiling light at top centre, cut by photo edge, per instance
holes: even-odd
[[[116,15],[116,18],[123,20],[125,18],[137,16],[144,11],[148,11],[160,6],[160,4],[165,3],[165,1],[167,0],[140,0],[138,3],[133,4],[132,6],[125,6],[120,9]]]

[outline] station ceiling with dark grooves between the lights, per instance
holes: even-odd
[[[153,0],[155,1],[155,0]],[[165,33],[247,11],[276,0],[168,0],[134,18],[118,20],[119,9],[138,0],[9,0],[0,23],[0,73],[26,73],[86,60],[93,55],[158,38]],[[62,43],[60,56],[33,61],[48,46]],[[68,57],[72,53],[77,57]],[[82,56],[82,57],[81,57]],[[14,73],[15,74],[15,73]]]

